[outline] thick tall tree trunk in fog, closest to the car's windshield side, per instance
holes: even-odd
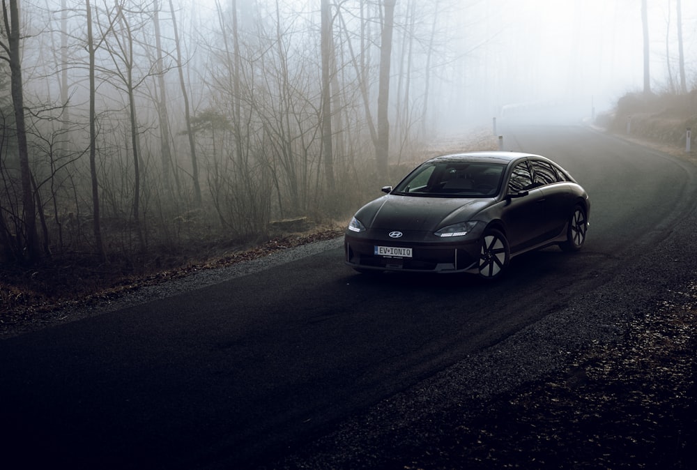
[[[392,59],[392,30],[395,24],[395,3],[397,0],[384,0],[385,20],[380,41],[380,79],[378,85],[378,142],[375,157],[378,176],[387,178],[388,156],[390,153],[390,60]]]

